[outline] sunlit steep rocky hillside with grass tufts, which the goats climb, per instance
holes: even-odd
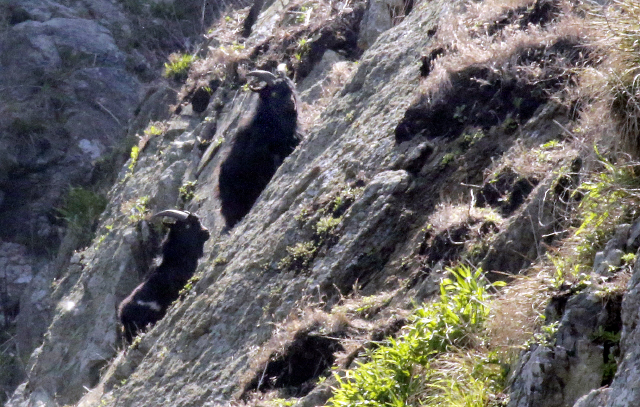
[[[7,406],[638,404],[638,15],[631,1],[229,9],[166,64],[182,83],[170,118],[150,113],[162,89],[138,110]],[[262,103],[256,69],[295,82],[303,138],[229,224],[221,166]],[[167,208],[211,238],[129,345],[116,308],[152,269],[151,215]]]

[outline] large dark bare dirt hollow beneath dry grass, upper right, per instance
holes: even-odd
[[[509,121],[515,131],[536,109],[570,79],[570,71],[585,58],[584,47],[561,39],[549,47],[533,47],[513,56],[515,62],[500,70],[472,65],[450,75],[451,86],[424,95],[405,112],[395,129],[396,142],[420,135],[427,139],[456,138],[469,126],[488,130]],[[543,74],[535,81],[520,76],[517,67],[535,66]]]

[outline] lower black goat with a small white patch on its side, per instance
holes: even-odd
[[[171,217],[176,222],[169,226],[162,244],[162,263],[118,307],[118,318],[129,343],[147,325],[162,319],[169,305],[178,299],[180,290],[196,271],[198,259],[204,254],[204,242],[209,239],[209,231],[195,214],[170,209],[155,216]]]

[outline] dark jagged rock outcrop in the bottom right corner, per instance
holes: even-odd
[[[523,354],[512,376],[510,407],[639,402],[633,383],[640,262],[635,262],[624,295],[616,283],[621,257],[638,250],[639,230],[640,221],[618,225],[595,255],[593,270],[599,277],[594,284],[580,282],[551,300],[546,320],[557,327],[548,332],[547,343],[536,343]],[[576,288],[584,291],[576,293]]]

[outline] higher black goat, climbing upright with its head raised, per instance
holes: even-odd
[[[221,212],[228,228],[251,210],[284,159],[293,152],[298,132],[297,96],[293,82],[280,72],[252,71],[264,86],[250,86],[259,95],[258,106],[232,141],[220,166],[218,188]]]

